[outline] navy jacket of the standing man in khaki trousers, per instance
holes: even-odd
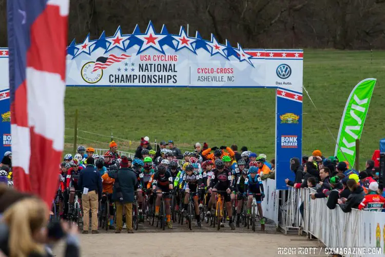
[[[99,172],[95,171],[95,167],[93,165],[87,165],[87,167],[82,170],[78,186],[82,191],[84,188],[88,188],[88,192],[95,190],[100,197],[102,196],[102,177]]]

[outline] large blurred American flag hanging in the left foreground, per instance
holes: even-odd
[[[69,0],[8,0],[14,186],[51,206],[64,148]]]

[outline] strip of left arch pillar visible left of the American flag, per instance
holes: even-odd
[[[4,153],[11,151],[11,112],[10,112],[10,96],[9,96],[9,77],[8,77],[8,48],[0,48],[0,133],[3,142],[0,144],[0,157]]]

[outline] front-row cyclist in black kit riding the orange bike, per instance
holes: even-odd
[[[233,224],[233,208],[230,198],[232,175],[228,169],[225,169],[224,162],[221,159],[215,161],[215,169],[211,172],[211,178],[209,180],[208,190],[211,193],[211,199],[208,203],[207,215],[211,215],[211,206],[216,202],[216,196],[218,191],[226,191],[227,194],[222,194],[226,203],[226,210],[228,213],[229,222],[228,225],[232,230],[235,229]]]

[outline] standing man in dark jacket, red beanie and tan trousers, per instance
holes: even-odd
[[[108,172],[108,176],[115,179],[112,193],[112,199],[115,201],[115,206],[117,208],[117,228],[115,233],[120,233],[123,228],[123,208],[126,209],[127,232],[133,233],[132,203],[134,200],[134,192],[139,181],[134,171],[128,167],[127,157],[122,159],[120,167],[121,168],[117,171]]]

